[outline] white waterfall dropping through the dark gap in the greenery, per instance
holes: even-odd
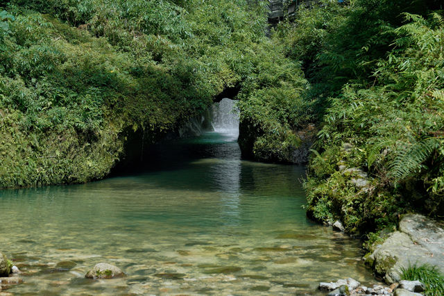
[[[212,126],[217,133],[237,137],[239,135],[239,110],[232,99],[222,99],[213,104]]]

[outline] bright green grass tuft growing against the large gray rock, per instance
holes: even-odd
[[[444,295],[444,276],[436,266],[410,265],[409,268],[402,268],[401,271],[402,279],[424,283],[424,295]]]

